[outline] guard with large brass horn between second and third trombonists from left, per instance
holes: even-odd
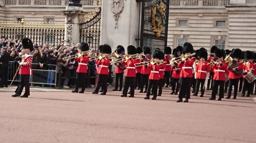
[[[117,54],[119,54],[120,57],[123,57],[123,54],[125,53],[125,48],[123,48],[122,45],[118,45],[116,48],[116,52]],[[120,88],[118,91],[122,91],[123,88],[123,71],[122,69],[120,69],[118,66],[119,64],[122,64],[121,62],[116,63],[116,86],[113,89],[113,91],[117,91],[118,89],[118,80],[120,82]]]

